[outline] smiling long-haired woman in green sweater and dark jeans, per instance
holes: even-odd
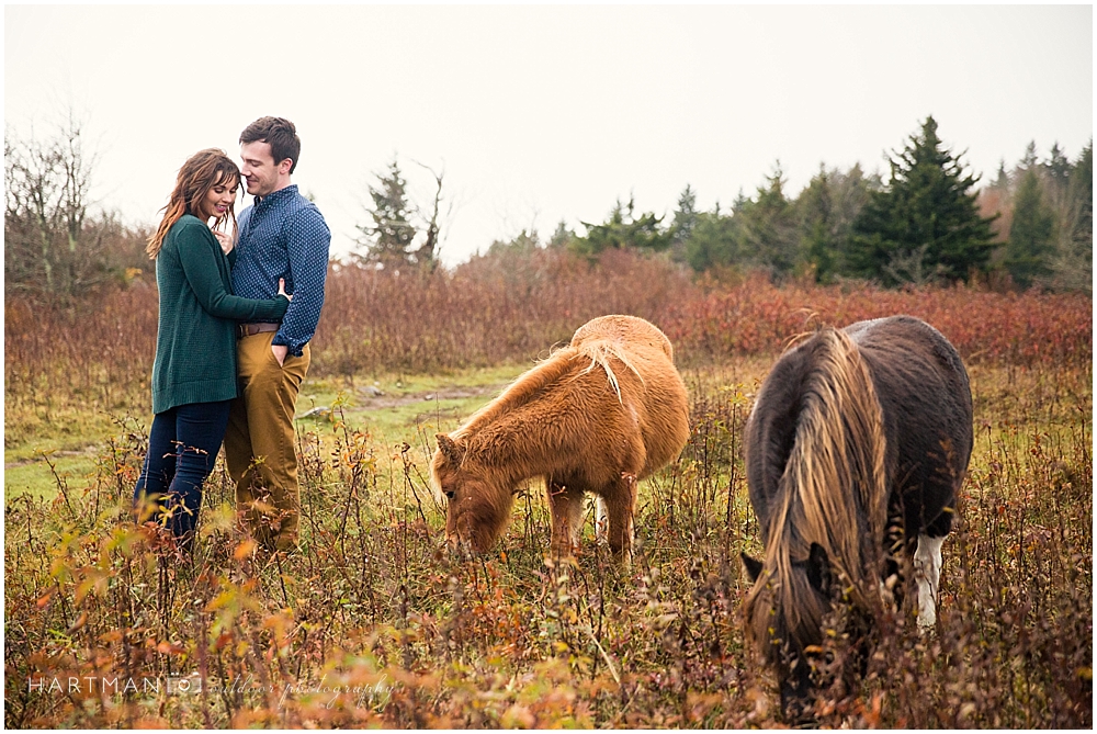
[[[179,169],[163,219],[146,251],[156,260],[160,317],[152,364],[152,428],[134,490],[138,521],[157,519],[189,547],[236,397],[236,321],[278,321],[290,296],[252,301],[231,294],[229,250],[236,236],[240,171],[210,148]],[[233,234],[223,229],[231,222]],[[218,241],[220,240],[220,241]]]

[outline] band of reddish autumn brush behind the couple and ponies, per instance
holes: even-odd
[[[80,307],[4,304],[5,385],[81,389],[144,384],[156,345],[151,284]],[[612,250],[590,263],[559,250],[477,257],[425,273],[332,266],[312,342],[312,374],[426,373],[543,359],[581,324],[631,314],[658,325],[680,364],[776,355],[818,323],[845,326],[909,314],[936,326],[966,362],[1093,360],[1085,294],[995,293],[979,287],[889,291],[870,284],[776,286],[695,282],[663,258]]]

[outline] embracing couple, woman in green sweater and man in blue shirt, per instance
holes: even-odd
[[[149,238],[160,298],[155,417],[134,504],[138,521],[165,524],[185,549],[223,441],[252,535],[268,551],[297,543],[294,407],[331,240],[291,182],[299,155],[296,128],[281,117],[240,134],[242,168],[220,150],[199,151]],[[255,203],[237,222],[241,179]]]

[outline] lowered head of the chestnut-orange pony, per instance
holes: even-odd
[[[507,527],[514,496],[497,468],[468,455],[462,438],[445,433],[436,438],[430,481],[445,497],[445,539],[451,546],[466,543],[476,553],[486,553]]]

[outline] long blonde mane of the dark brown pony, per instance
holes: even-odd
[[[746,619],[766,640],[773,620],[755,606],[764,594],[783,619],[776,620],[800,647],[817,631],[824,605],[793,562],[818,543],[850,600],[872,609],[878,596],[886,524],[886,438],[880,400],[868,368],[848,335],[818,332],[792,451],[778,484],[762,572],[746,600]]]

